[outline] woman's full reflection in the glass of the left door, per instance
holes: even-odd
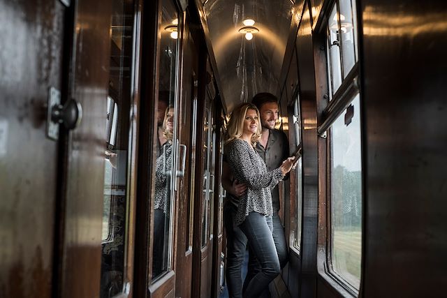
[[[152,278],[159,276],[168,265],[168,235],[170,209],[170,174],[173,166],[174,108],[168,107],[163,120],[163,137],[160,156],[156,158],[154,200],[154,255]]]

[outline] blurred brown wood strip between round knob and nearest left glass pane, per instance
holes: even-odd
[[[69,96],[82,105],[83,117],[64,144],[62,297],[99,295],[110,15],[109,1],[76,2]]]

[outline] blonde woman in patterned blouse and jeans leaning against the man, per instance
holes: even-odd
[[[234,179],[248,186],[238,202],[235,225],[249,241],[261,271],[251,279],[243,297],[258,297],[280,272],[279,258],[272,236],[272,194],[293,165],[287,158],[280,167],[267,172],[254,144],[261,137],[261,121],[255,105],[243,103],[235,109],[228,123],[226,156]]]

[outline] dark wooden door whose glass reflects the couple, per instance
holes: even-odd
[[[175,198],[184,183],[189,151],[179,128],[184,109],[178,70],[183,17],[177,1],[159,0],[145,2],[142,20],[134,296],[173,297]]]

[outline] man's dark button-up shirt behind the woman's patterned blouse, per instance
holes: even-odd
[[[267,140],[267,148],[264,148],[259,142],[256,143],[256,151],[265,161],[268,171],[277,169],[283,161],[288,158],[288,140],[283,131],[277,129],[270,129]],[[273,210],[279,211],[279,188],[275,186],[272,189],[272,203]]]

